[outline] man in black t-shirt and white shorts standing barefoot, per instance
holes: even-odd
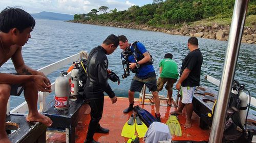
[[[192,99],[194,91],[200,83],[201,66],[203,63],[203,56],[198,48],[198,39],[196,37],[190,37],[188,39],[187,47],[190,52],[187,54],[182,62],[180,70],[181,77],[176,84],[176,89],[180,91],[181,100],[179,108],[172,113],[181,115],[183,107],[186,108],[186,123],[185,128],[191,127],[191,116],[193,113]]]

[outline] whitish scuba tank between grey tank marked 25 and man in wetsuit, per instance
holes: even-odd
[[[72,95],[78,95],[78,71],[78,66],[75,64],[75,68],[71,71],[70,92]]]

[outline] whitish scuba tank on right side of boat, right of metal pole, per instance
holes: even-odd
[[[243,91],[244,89],[244,85],[240,85],[241,91],[239,93],[239,98],[241,100],[241,107],[239,110],[239,116],[241,119],[241,124],[244,126],[245,122],[246,122],[246,113],[247,113],[247,100],[248,97],[246,95],[246,93]]]

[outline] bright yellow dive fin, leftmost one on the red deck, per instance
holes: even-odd
[[[130,119],[123,125],[121,136],[131,138],[135,133],[135,123],[133,114]]]

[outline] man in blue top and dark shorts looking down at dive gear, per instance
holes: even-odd
[[[128,61],[130,63],[129,68],[131,70],[137,70],[134,78],[131,82],[131,87],[128,92],[129,96],[129,107],[124,109],[123,112],[127,113],[133,110],[134,105],[134,94],[135,92],[140,92],[143,85],[145,84],[146,87],[152,92],[152,95],[154,97],[155,101],[155,107],[156,107],[156,118],[159,122],[161,122],[160,119],[160,100],[157,92],[157,79],[156,79],[156,73],[154,70],[154,67],[151,61],[151,55],[146,50],[145,46],[140,42],[135,42],[133,45],[131,45],[127,38],[124,35],[118,36],[119,39],[119,46],[122,50],[126,50],[127,48],[131,48],[131,51],[133,52],[132,55],[129,55]],[[137,50],[135,49],[135,46]],[[136,56],[136,57],[135,57]]]

